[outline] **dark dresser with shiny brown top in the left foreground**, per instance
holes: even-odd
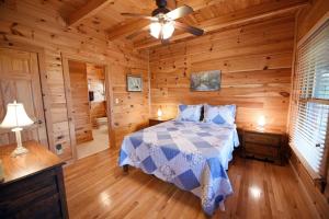
[[[37,142],[23,145],[29,153],[16,158],[11,157],[15,145],[0,147],[0,218],[68,218],[64,163]]]

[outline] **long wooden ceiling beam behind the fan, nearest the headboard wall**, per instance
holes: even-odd
[[[243,25],[250,22],[257,22],[264,19],[270,19],[287,13],[293,13],[296,10],[308,4],[308,0],[292,0],[292,1],[274,1],[262,4],[249,7],[232,13],[224,14],[214,19],[201,22],[197,26],[205,32],[218,31],[230,26]],[[173,35],[170,41],[178,41],[191,37],[189,33]],[[161,42],[152,37],[136,42],[134,44],[136,49],[149,48],[160,45]]]

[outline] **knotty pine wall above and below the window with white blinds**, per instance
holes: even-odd
[[[310,4],[300,11],[297,16],[297,42],[302,39],[307,33],[313,28],[317,22],[329,12],[329,1],[328,0],[314,0]],[[328,45],[327,45],[328,46]],[[329,218],[329,170],[327,173],[327,186],[325,192],[321,193],[319,188],[315,185],[315,182],[310,178],[307,170],[299,161],[298,157],[292,151],[293,155],[291,158],[291,164],[295,169],[296,173],[303,185],[305,186],[311,203],[318,210],[320,218]]]

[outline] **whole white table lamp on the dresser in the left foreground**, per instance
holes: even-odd
[[[12,157],[29,152],[29,150],[22,145],[21,130],[23,130],[23,127],[30,126],[32,124],[34,124],[34,122],[27,116],[23,104],[16,103],[16,101],[14,101],[13,103],[9,103],[7,105],[7,114],[2,123],[0,124],[0,127],[11,128],[11,130],[15,132],[18,147],[11,153]]]

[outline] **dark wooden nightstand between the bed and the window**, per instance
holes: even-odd
[[[243,128],[242,155],[269,160],[282,165],[286,142],[286,134],[283,131]]]

